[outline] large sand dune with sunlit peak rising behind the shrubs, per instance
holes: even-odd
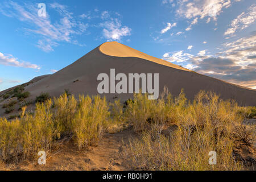
[[[101,82],[97,81],[98,74],[109,75],[111,68],[115,69],[116,74],[159,73],[159,92],[162,92],[166,85],[168,90],[176,96],[181,88],[184,88],[190,100],[200,90],[211,90],[220,94],[221,98],[234,99],[241,105],[256,105],[256,90],[254,89],[243,88],[191,72],[117,42],[102,44],[68,67],[26,86],[26,90],[31,93],[30,98],[35,98],[42,92],[48,92],[51,96],[59,96],[64,89],[69,89],[76,97],[79,94],[95,95],[98,94],[97,86]],[[117,96],[121,101],[125,101],[133,97],[133,94],[104,94],[104,96],[108,100],[113,100],[113,97]]]

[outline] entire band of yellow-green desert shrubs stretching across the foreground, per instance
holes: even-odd
[[[52,144],[63,137],[77,150],[87,150],[97,146],[104,132],[130,125],[138,135],[122,154],[130,169],[241,170],[247,166],[234,150],[251,146],[255,139],[255,126],[243,125],[254,111],[204,91],[193,101],[183,90],[177,97],[165,90],[158,100],[134,94],[125,104],[100,96],[76,100],[69,92],[51,99],[42,93],[34,113],[25,105],[20,118],[0,118],[0,160],[19,162],[40,150],[51,152]],[[209,151],[216,151],[216,165],[209,165]]]

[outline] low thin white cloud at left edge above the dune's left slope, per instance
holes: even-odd
[[[31,64],[28,62],[20,62],[13,55],[4,55],[0,52],[0,64],[11,66],[11,67],[22,67],[22,68],[32,68],[32,69],[40,69],[40,67],[36,64]]]

